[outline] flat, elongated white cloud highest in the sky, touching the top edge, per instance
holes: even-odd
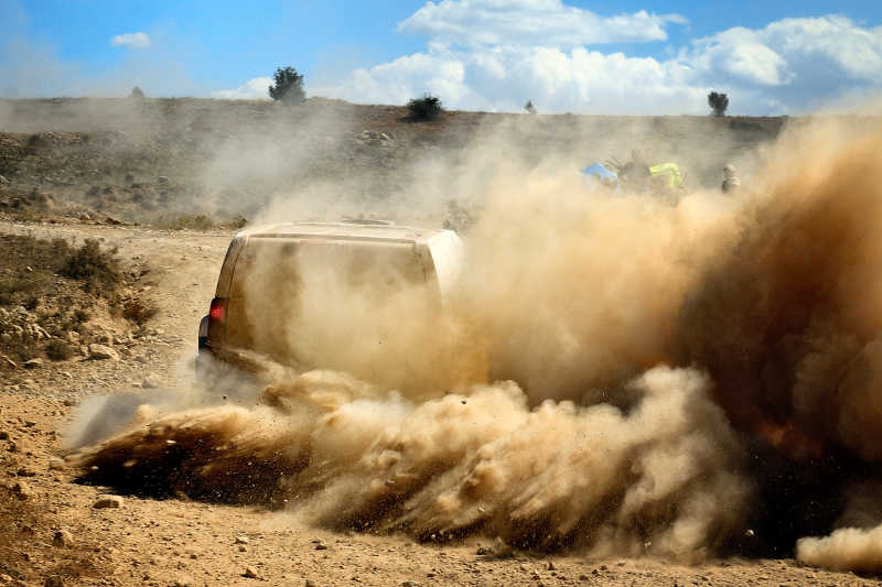
[[[665,26],[685,23],[678,14],[599,17],[561,0],[442,0],[398,24],[398,30],[458,45],[574,46],[664,41]]]

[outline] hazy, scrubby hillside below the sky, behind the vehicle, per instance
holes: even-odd
[[[0,100],[0,214],[235,221],[281,198],[305,216],[426,218],[449,199],[480,203],[504,165],[576,173],[633,149],[678,162],[692,189],[716,188],[724,163],[753,169],[788,120],[407,115],[323,98]]]

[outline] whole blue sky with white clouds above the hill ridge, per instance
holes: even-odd
[[[882,84],[882,2],[0,0],[0,95],[310,95],[450,107],[742,113],[851,105]],[[257,7],[257,8],[255,8]],[[116,41],[115,41],[116,40]],[[840,106],[845,108],[846,106]]]

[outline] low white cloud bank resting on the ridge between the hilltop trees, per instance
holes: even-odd
[[[519,111],[529,99],[550,112],[704,112],[707,90],[691,87],[675,61],[605,55],[585,47],[492,47],[470,52],[434,46],[312,94],[362,102],[405,104],[430,93],[450,108]]]

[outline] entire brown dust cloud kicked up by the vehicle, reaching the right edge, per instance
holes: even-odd
[[[336,371],[276,369],[250,402],[144,407],[74,458],[99,482],[336,529],[682,559],[796,547],[876,568],[875,531],[837,530],[882,458],[868,120],[794,124],[734,197],[589,196],[560,159],[476,156],[493,172],[470,172],[483,208],[433,327],[407,289],[337,301],[323,324],[342,334],[312,358]],[[256,283],[257,306],[273,303]],[[396,309],[390,350],[359,361],[357,333]],[[270,323],[273,348],[315,339]]]

